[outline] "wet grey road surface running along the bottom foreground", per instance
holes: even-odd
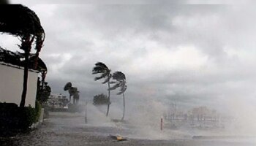
[[[97,121],[92,121],[97,123]],[[248,139],[172,139],[149,140],[132,137],[118,142],[110,134],[132,136],[134,131],[117,125],[85,124],[83,115],[64,112],[50,112],[50,117],[33,131],[15,137],[1,137],[0,145],[14,146],[82,146],[82,145],[197,145],[197,146],[250,146],[255,140]]]

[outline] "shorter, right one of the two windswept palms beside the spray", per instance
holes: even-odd
[[[109,88],[109,90],[115,90],[116,88],[120,88],[117,95],[123,94],[124,110],[123,110],[123,117],[121,118],[121,120],[124,120],[124,113],[125,113],[124,92],[127,90],[126,77],[123,72],[114,72],[112,78],[113,78],[113,80],[116,80],[116,81],[110,82],[110,83],[115,83],[115,85],[113,85],[113,87]]]

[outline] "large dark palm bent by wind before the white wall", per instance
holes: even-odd
[[[24,107],[26,101],[31,45],[33,42],[36,43],[34,49],[37,50],[37,53],[36,61],[34,61],[34,68],[37,68],[37,59],[45,40],[45,31],[35,12],[21,4],[14,4],[0,6],[0,32],[19,37],[21,41],[19,47],[24,51],[25,64],[20,107]]]

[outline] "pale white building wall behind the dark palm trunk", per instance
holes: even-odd
[[[35,106],[37,95],[37,72],[29,72],[25,106]],[[23,91],[23,69],[0,64],[0,102],[15,103],[20,106]]]

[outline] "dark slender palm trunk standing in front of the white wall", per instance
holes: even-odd
[[[26,101],[26,91],[28,87],[28,77],[29,77],[29,51],[25,51],[25,65],[23,74],[23,91],[21,94],[20,107],[25,107]]]

